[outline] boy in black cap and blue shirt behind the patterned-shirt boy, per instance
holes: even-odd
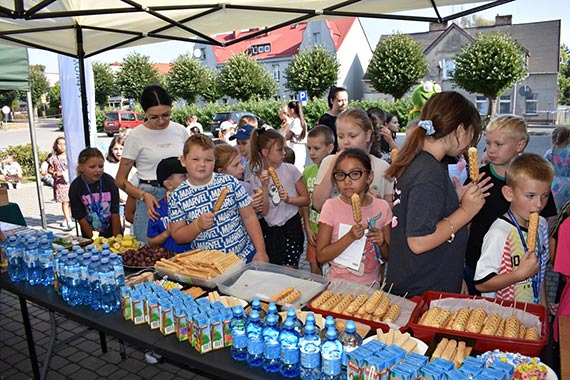
[[[168,197],[170,193],[187,178],[186,169],[177,157],[169,157],[160,161],[156,168],[156,179],[166,189],[166,196],[158,203],[160,208],[156,211],[160,214],[156,221],[148,221],[147,239],[152,248],[163,247],[169,251],[180,253],[190,250],[190,244],[178,244],[170,236],[170,220],[168,218]]]

